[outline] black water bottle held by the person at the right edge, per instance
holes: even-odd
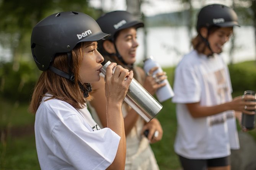
[[[244,96],[245,95],[255,96],[255,91],[246,90],[244,92]],[[250,100],[250,101],[256,101],[256,99]],[[245,108],[245,110],[248,110],[248,109]],[[255,110],[248,110],[248,111],[255,111]],[[254,115],[248,115],[248,114],[242,113],[242,122],[241,122],[241,124],[245,128],[247,128],[248,130],[252,130],[255,127],[255,114]]]

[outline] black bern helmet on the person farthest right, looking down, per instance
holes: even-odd
[[[212,4],[204,6],[198,14],[196,29],[200,31],[201,27],[233,27],[239,26],[235,11],[225,5]]]

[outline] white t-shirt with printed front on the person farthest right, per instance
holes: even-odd
[[[239,149],[234,111],[193,118],[186,103],[214,106],[232,100],[228,68],[220,55],[207,58],[193,50],[175,71],[173,103],[176,103],[178,131],[175,152],[188,159],[212,159]]]

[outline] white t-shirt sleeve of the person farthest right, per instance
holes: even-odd
[[[200,101],[201,87],[196,67],[180,63],[175,71],[173,103],[196,103]]]

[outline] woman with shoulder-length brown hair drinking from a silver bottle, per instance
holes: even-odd
[[[104,60],[97,41],[107,36],[90,16],[73,11],[52,14],[33,28],[31,51],[42,74],[29,109],[36,114],[36,149],[42,170],[124,169],[121,106],[133,72],[117,66],[113,74],[116,63],[107,68],[106,128],[99,128],[86,106],[90,83],[99,81]]]

